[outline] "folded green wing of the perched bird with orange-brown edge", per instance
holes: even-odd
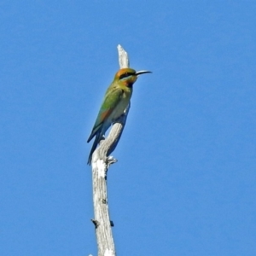
[[[123,93],[124,91],[118,87],[113,88],[113,90],[108,90],[87,143],[96,136],[97,131],[101,131],[103,122],[108,119],[108,116],[113,112],[113,109],[119,104]]]

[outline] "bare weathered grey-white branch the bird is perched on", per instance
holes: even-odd
[[[120,68],[129,67],[129,59],[125,50],[118,45]],[[125,127],[125,121],[129,112],[130,104],[125,113],[113,124],[108,137],[102,140],[100,146],[92,154],[92,185],[93,205],[95,218],[91,219],[96,227],[96,240],[98,256],[115,256],[113,235],[111,227],[113,222],[109,218],[107,196],[107,172],[108,167],[117,160],[108,157],[117,146],[119,138]]]

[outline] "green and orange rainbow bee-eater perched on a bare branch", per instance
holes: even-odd
[[[132,85],[136,82],[138,75],[151,73],[150,71],[135,71],[131,68],[121,68],[114,76],[112,84],[108,87],[104,96],[102,107],[97,115],[95,125],[92,128],[87,143],[93,137],[95,141],[90,150],[88,164],[90,165],[91,157],[97,144],[102,140],[109,126],[118,119],[128,106],[131,95]]]

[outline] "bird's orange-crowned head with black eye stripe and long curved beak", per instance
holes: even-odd
[[[132,68],[121,68],[114,76],[114,80],[124,84],[127,87],[132,87],[137,80],[137,77],[143,73],[152,73],[150,71],[135,71]]]

